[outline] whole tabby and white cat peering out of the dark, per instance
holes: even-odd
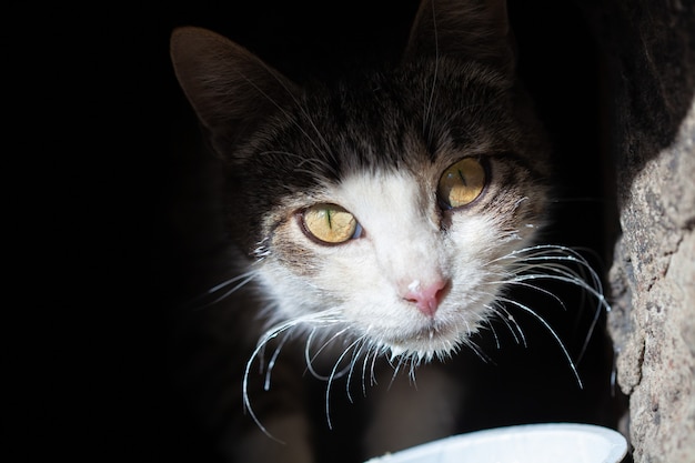
[[[351,400],[355,378],[370,396],[355,459],[450,435],[465,387],[441,366],[462,348],[484,356],[491,320],[523,338],[511,312],[537,316],[511,286],[568,281],[605,303],[578,254],[538,243],[551,147],[504,1],[423,0],[396,66],[330,84],[300,85],[193,27],[174,30],[171,58],[225,178],[234,275],[211,294],[233,313],[210,339],[234,360],[198,368],[224,372],[201,406],[230,461],[318,461],[326,423],[310,402],[331,426],[341,378]],[[329,382],[324,397],[305,371]]]

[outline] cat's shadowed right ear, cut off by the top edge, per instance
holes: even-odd
[[[422,0],[404,59],[444,54],[511,71],[515,60],[506,0]]]

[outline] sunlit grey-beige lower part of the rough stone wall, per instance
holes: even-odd
[[[635,462],[695,462],[695,114],[635,177],[608,316]]]

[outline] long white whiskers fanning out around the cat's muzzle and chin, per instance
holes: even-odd
[[[561,245],[534,245],[511,252],[510,254],[491,262],[491,264],[504,263],[507,260],[510,261],[510,264],[505,265],[507,270],[504,273],[498,273],[498,279],[495,281],[490,281],[487,282],[487,284],[495,286],[500,284],[506,284],[511,286],[521,286],[537,291],[553,299],[563,310],[566,310],[564,302],[550,290],[536,284],[536,282],[556,281],[561,283],[566,283],[577,286],[583,291],[583,293],[594,296],[597,300],[597,306],[596,315],[594,316],[590,329],[590,335],[597,323],[598,315],[601,314],[601,309],[605,309],[606,311],[610,310],[610,305],[603,296],[601,280],[597,273],[591,268],[588,262],[575,250]],[[251,281],[255,273],[248,272],[245,274],[235,276],[234,279],[230,279],[229,281],[214,286],[210,290],[210,293],[215,293],[234,285],[231,290],[225,291],[223,296],[226,296],[228,293],[236,291],[239,288]],[[570,369],[572,370],[576,382],[578,383],[580,387],[583,387],[583,383],[578,375],[575,361],[573,361],[560,335],[551,326],[551,324],[546,322],[542,315],[540,315],[536,311],[534,311],[525,303],[515,301],[504,295],[497,295],[495,299],[495,302],[487,305],[486,309],[488,310],[488,313],[493,313],[496,315],[495,319],[501,319],[503,321],[510,333],[513,335],[514,341],[517,344],[527,345],[526,335],[524,334],[524,331],[522,330],[518,322],[510,313],[507,309],[510,306],[515,306],[517,309],[521,309],[523,312],[530,314],[537,322],[540,322],[541,325],[553,336],[554,341],[560,346],[564,358],[567,360],[567,363],[570,364]],[[487,325],[491,328],[491,331],[493,332],[493,335],[495,338],[496,346],[497,349],[500,349],[500,338],[493,324],[491,323],[492,319],[486,318],[483,314],[479,314],[477,316],[481,319],[480,323],[482,325]],[[349,326],[344,324],[341,326],[341,323],[344,323],[344,320],[341,318],[340,312],[334,309],[316,314],[309,314],[295,318],[290,321],[280,323],[268,330],[261,336],[255,350],[253,351],[250,360],[246,363],[246,368],[244,371],[243,403],[244,409],[251,415],[256,425],[269,436],[273,437],[269,433],[269,431],[261,424],[259,417],[255,415],[254,411],[251,407],[251,400],[249,396],[249,376],[250,369],[253,362],[261,361],[265,346],[269,345],[271,341],[280,339],[281,335],[283,338],[279,340],[279,343],[274,349],[273,354],[269,360],[269,363],[266,364],[263,389],[268,391],[271,387],[272,370],[280,356],[283,346],[285,345],[285,342],[292,336],[292,333],[299,330],[304,332],[309,330],[304,348],[304,361],[308,372],[310,372],[314,378],[325,381],[328,383],[325,390],[325,413],[329,429],[332,429],[330,415],[331,389],[338,379],[343,378],[344,375],[348,376],[345,384],[346,395],[349,400],[352,401],[350,384],[352,383],[352,379],[354,376],[355,370],[357,369],[357,364],[361,361],[362,394],[366,395],[367,375],[369,384],[371,386],[376,384],[375,364],[379,358],[389,352],[389,346],[375,341],[370,341],[366,335],[361,335],[353,340],[346,346],[342,348],[342,352],[334,361],[330,373],[321,374],[315,369],[315,362],[319,356],[324,351],[329,350],[332,344],[334,345],[336,341],[343,339],[344,335],[350,331]],[[491,362],[491,358],[487,356],[482,351],[482,349],[472,340],[472,335],[474,333],[472,323],[474,323],[474,320],[464,320],[463,323],[465,324],[466,332],[462,333],[462,336],[457,342],[461,342],[463,345],[471,349],[482,361],[486,363]],[[326,328],[330,328],[333,331],[323,339],[323,341],[320,345],[318,345],[316,349],[312,350],[312,343],[314,343],[321,334],[320,330]],[[586,339],[586,342],[588,342],[588,338]],[[584,352],[586,348],[586,342],[582,352]],[[451,343],[446,348],[455,351],[457,350],[457,346],[454,344],[455,343]],[[393,374],[391,375],[389,386],[391,386],[393,381],[395,381],[396,376],[400,374],[400,372],[403,371],[404,368],[409,369],[409,376],[411,378],[411,381],[416,384],[416,368],[423,361],[427,362],[432,360],[435,354],[437,356],[444,356],[444,354],[441,353],[426,354],[421,352],[392,355],[391,358],[386,356],[389,363],[393,369]],[[348,364],[343,368],[342,365],[348,359]]]

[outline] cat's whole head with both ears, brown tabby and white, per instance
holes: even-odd
[[[273,322],[429,359],[494,312],[512,253],[543,224],[547,152],[504,2],[461,3],[423,1],[400,66],[331,87],[174,31],[177,76],[224,162],[231,234]]]

